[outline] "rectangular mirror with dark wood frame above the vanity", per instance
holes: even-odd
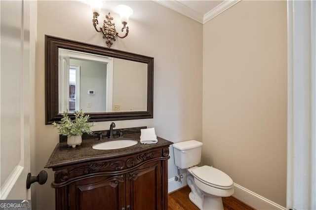
[[[45,35],[45,123],[153,118],[154,58]]]

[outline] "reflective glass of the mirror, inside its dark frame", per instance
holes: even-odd
[[[147,110],[147,64],[58,49],[59,113]]]

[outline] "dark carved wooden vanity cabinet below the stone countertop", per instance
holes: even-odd
[[[56,210],[167,210],[168,147],[55,171]]]

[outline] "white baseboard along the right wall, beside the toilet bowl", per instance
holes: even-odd
[[[240,186],[239,184],[234,183],[234,190],[235,192],[233,196],[235,198],[257,210],[286,210],[285,207],[282,207],[275,202]]]

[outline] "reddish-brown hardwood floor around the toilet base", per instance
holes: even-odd
[[[189,186],[168,195],[168,210],[199,210],[189,199]],[[255,210],[234,197],[223,198],[224,210]]]

